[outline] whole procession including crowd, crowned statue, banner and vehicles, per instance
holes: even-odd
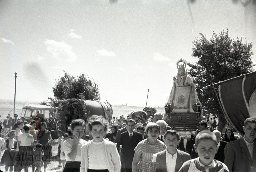
[[[0,138],[2,171],[46,172],[54,160],[63,172],[255,172],[256,72],[204,88],[219,86],[228,119],[220,129],[215,117],[203,115],[186,61],[176,67],[165,113],[145,107],[117,118],[108,102],[86,100],[86,119],[58,112],[52,102],[24,106],[20,118],[8,114],[1,128],[8,129],[7,139]],[[234,112],[237,102],[240,112]]]

